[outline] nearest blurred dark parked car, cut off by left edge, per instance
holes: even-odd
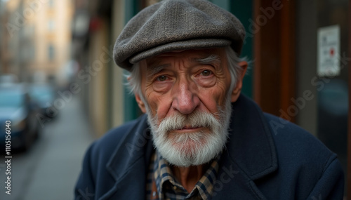
[[[29,149],[40,131],[37,113],[38,108],[31,102],[25,86],[0,86],[1,153],[4,153],[5,145],[9,147],[8,143],[11,144],[11,150]],[[11,135],[11,142],[6,140],[9,138],[6,135]]]

